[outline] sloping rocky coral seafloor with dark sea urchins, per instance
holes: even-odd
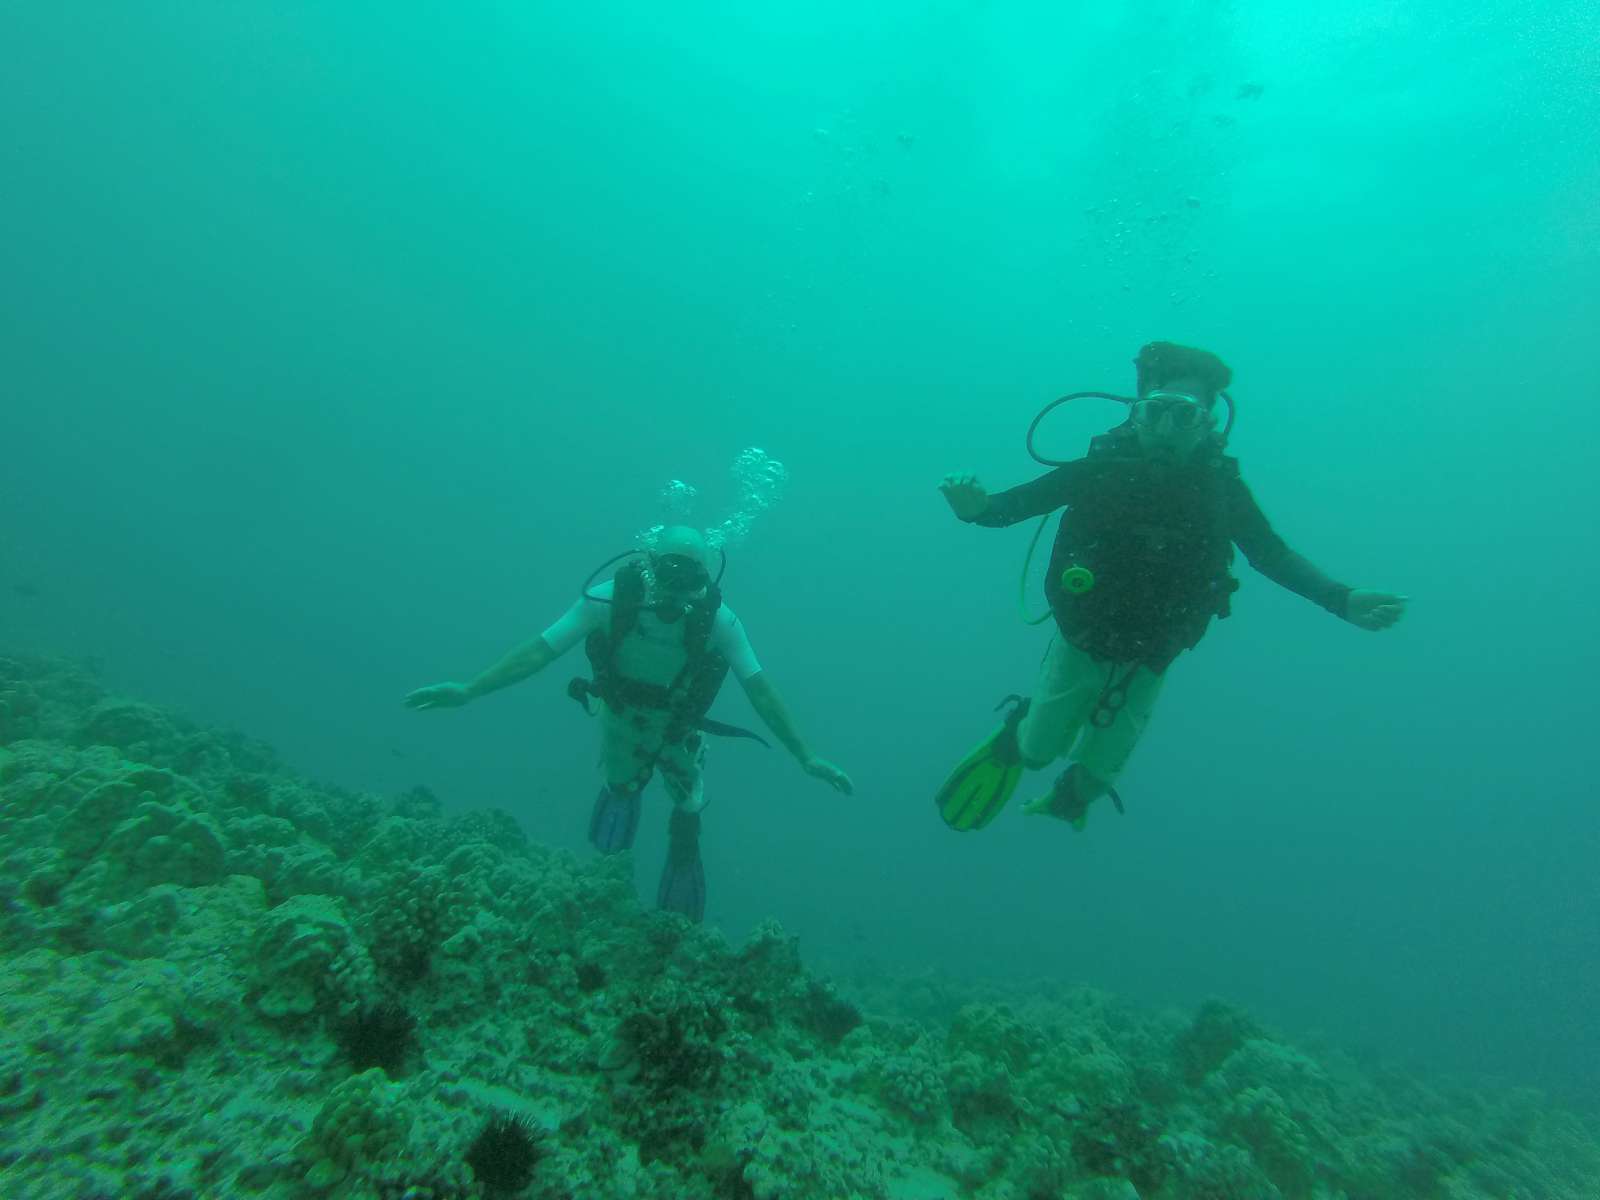
[[[1536,1093],[1221,1003],[848,998],[629,874],[0,658],[0,1195],[1600,1195]]]

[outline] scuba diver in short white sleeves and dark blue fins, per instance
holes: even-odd
[[[616,576],[595,584],[619,558],[627,562]],[[640,795],[659,771],[674,806],[656,901],[693,922],[706,915],[699,854],[706,734],[762,741],[706,715],[730,669],[762,722],[806,774],[846,795],[853,790],[850,776],[814,755],[795,731],[744,626],[722,602],[720,570],[714,579],[710,568],[712,554],[699,530],[658,528],[648,549],[602,563],[565,616],[470,683],[435,683],[405,698],[411,709],[458,707],[520,683],[584,642],[594,678],[574,678],[568,693],[590,712],[590,701],[598,701],[605,773],[589,818],[589,840],[602,854],[629,850],[638,829]]]

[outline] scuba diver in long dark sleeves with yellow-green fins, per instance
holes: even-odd
[[[1024,806],[1083,829],[1090,805],[1115,790],[1155,707],[1166,669],[1229,614],[1238,581],[1234,546],[1275,584],[1360,629],[1387,629],[1406,597],[1346,587],[1278,538],[1224,454],[1234,424],[1232,371],[1208,350],[1150,342],[1133,360],[1136,397],[1075,392],[1029,427],[1029,453],[1046,475],[989,494],[973,475],[946,475],[939,491],[960,520],[990,528],[1066,507],[1045,597],[1056,637],[1030,699],[1010,696],[1005,723],[939,789],[946,824],[982,829],[1005,806],[1024,768],[1070,758],[1054,786]],[[1130,406],[1128,419],[1090,442],[1074,461],[1034,450],[1040,421],[1069,400],[1098,397]],[[1218,427],[1218,398],[1227,422]],[[1035,544],[1038,531],[1034,534]],[[1029,550],[1032,557],[1032,549]],[[1026,581],[1024,568],[1024,581]]]

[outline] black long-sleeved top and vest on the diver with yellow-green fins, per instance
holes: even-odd
[[[1123,426],[1094,438],[1085,458],[990,496],[973,523],[1014,525],[1062,506],[1045,595],[1062,637],[1096,658],[1165,670],[1213,616],[1227,616],[1234,546],[1274,582],[1344,616],[1350,589],[1272,531],[1238,461],[1221,451],[1154,459]],[[1069,566],[1086,566],[1094,586],[1067,592]]]

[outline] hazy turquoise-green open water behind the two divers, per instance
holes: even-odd
[[[746,8],[0,13],[0,643],[581,850],[565,662],[398,698],[539,632],[666,480],[720,520],[763,446],[728,602],[858,797],[717,746],[712,922],[1592,1094],[1595,10]],[[1246,571],[1126,818],[949,834],[1045,635],[1026,531],[934,485],[1032,477],[1032,413],[1152,338],[1234,366],[1290,544],[1413,611]]]

